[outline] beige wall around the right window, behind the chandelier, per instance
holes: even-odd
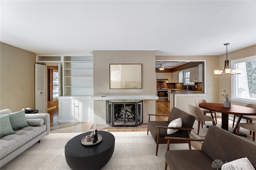
[[[231,45],[232,44],[230,44],[230,46]],[[255,55],[256,55],[256,45],[249,46],[247,48],[243,48],[243,49],[236,50],[233,52],[228,52],[228,60],[230,62],[230,66],[231,66],[231,60],[236,60],[238,58],[245,58],[245,57],[250,57],[250,56],[255,56]],[[215,70],[218,70],[218,69],[223,70],[225,60],[226,60],[226,54],[219,56],[219,66],[216,67]],[[243,72],[243,70],[242,70],[242,72]],[[231,77],[232,77],[232,75],[224,74],[222,76],[217,76],[217,77],[219,78],[218,92],[221,92],[222,89],[226,88],[227,93],[230,94],[230,97],[231,97]],[[224,97],[219,96],[219,102],[223,102],[223,101],[224,101]],[[246,103],[231,101],[231,104],[244,106]]]

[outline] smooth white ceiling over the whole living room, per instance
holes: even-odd
[[[0,40],[35,53],[220,55],[256,44],[255,0],[3,1]]]

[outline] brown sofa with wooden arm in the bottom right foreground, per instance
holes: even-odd
[[[177,138],[166,139],[170,141]],[[214,125],[210,126],[202,140],[202,150],[169,150],[167,144],[165,170],[167,165],[170,170],[214,170],[221,167],[214,162],[222,161],[224,164],[244,157],[256,168],[256,144]]]

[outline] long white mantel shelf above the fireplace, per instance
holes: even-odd
[[[91,100],[157,100],[158,96],[92,96]]]

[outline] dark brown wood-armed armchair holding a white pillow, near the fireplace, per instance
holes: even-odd
[[[166,136],[169,137],[180,137],[180,138],[189,138],[190,132],[193,128],[193,124],[195,122],[195,117],[184,112],[176,107],[172,108],[169,115],[160,115],[160,114],[148,114],[148,131],[152,135],[152,138],[156,142],[156,156],[158,152],[159,144],[167,144]],[[150,121],[150,116],[167,116],[168,120],[159,120],[159,121]],[[181,128],[168,127],[171,122],[175,122],[175,120],[181,118],[182,126]],[[171,134],[168,134],[168,129],[174,130]],[[148,134],[148,133],[147,133]],[[189,149],[191,149],[191,143],[188,140],[171,140],[170,143],[188,143]]]

